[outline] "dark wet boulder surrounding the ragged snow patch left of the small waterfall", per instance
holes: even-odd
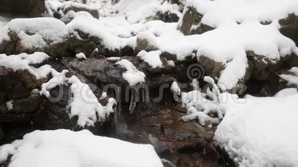
[[[71,68],[65,66],[63,62],[53,61],[50,65],[57,71],[62,71],[64,69],[69,70],[66,77],[71,77],[72,75],[77,76],[82,82],[87,83],[92,92],[99,99],[99,102],[105,106],[108,97],[101,99],[102,91],[98,89],[97,86],[91,84],[90,81],[82,76],[81,74],[73,71]],[[82,130],[88,129],[94,134],[100,134],[103,132],[103,127],[110,123],[113,114],[109,115],[106,122],[96,122],[94,127],[85,126],[84,128],[77,125],[78,117],[74,116],[69,118],[69,101],[73,97],[70,89],[71,85],[60,85],[50,90],[50,97],[43,97],[41,102],[43,109],[37,112],[34,116],[34,122],[39,125],[39,127],[44,127],[45,129],[55,130],[55,129],[71,129],[71,130]]]

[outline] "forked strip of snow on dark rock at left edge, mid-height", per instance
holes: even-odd
[[[36,79],[45,78],[51,70],[51,67],[44,65],[38,69],[30,67],[29,65],[39,64],[49,58],[49,56],[42,52],[35,52],[33,54],[22,53],[19,55],[0,54],[0,66],[4,66],[13,70],[28,70],[35,75]]]

